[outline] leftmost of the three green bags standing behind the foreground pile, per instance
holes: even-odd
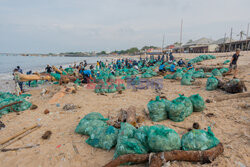
[[[159,122],[167,119],[168,114],[166,112],[165,101],[160,100],[159,96],[155,100],[151,100],[147,106],[152,121]]]

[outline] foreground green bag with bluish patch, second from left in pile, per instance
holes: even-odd
[[[86,143],[92,147],[110,150],[116,145],[119,130],[113,126],[98,127],[93,131]]]

